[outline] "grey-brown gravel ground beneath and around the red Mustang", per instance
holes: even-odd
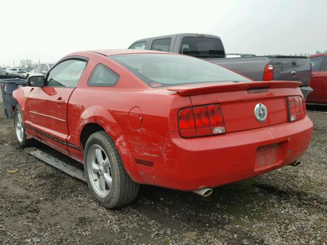
[[[298,167],[215,188],[208,198],[144,185],[114,210],[99,206],[85,183],[22,151],[3,110],[0,244],[327,244],[327,106],[308,106],[314,133]]]

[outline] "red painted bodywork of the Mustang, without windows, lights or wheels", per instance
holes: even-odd
[[[306,116],[287,122],[286,98],[302,96],[299,83],[151,88],[105,55],[160,52],[97,52],[101,54],[69,55],[88,59],[76,88],[21,87],[14,91],[13,96],[24,113],[29,138],[37,138],[83,162],[81,132],[90,123],[98,124],[114,140],[125,169],[134,181],[179,190],[215,187],[260,175],[295,161],[308,148],[311,120]],[[114,87],[87,85],[99,63],[119,74]],[[256,87],[268,89],[247,91]],[[225,134],[180,137],[179,109],[216,103],[221,105]],[[254,117],[258,103],[265,104],[268,110],[268,118],[263,123]],[[263,150],[258,152],[258,149]],[[150,161],[153,167],[136,164],[135,158]]]

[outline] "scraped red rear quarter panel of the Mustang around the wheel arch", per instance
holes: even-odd
[[[87,85],[92,70],[99,63],[119,74],[120,79],[114,87]],[[69,99],[67,111],[67,141],[80,146],[81,151],[69,151],[77,155],[76,158],[83,159],[80,134],[85,125],[96,123],[114,140],[121,155],[133,153],[160,156],[165,133],[170,128],[169,117],[172,108],[177,108],[174,112],[177,121],[178,108],[191,105],[189,97],[180,98],[170,94],[172,92],[166,89],[150,88],[127,69],[105,56],[89,56],[80,83]],[[130,110],[135,107],[142,111],[142,118],[138,118],[142,124],[138,129],[130,127],[128,116]],[[123,160],[124,164],[126,161]],[[128,169],[128,166],[126,168]]]

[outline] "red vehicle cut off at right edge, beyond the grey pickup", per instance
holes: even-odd
[[[310,56],[312,64],[310,87],[313,92],[307,97],[308,103],[327,103],[327,53]]]

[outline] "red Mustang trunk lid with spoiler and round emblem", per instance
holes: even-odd
[[[262,128],[288,121],[286,98],[299,95],[299,82],[250,82],[192,84],[171,87],[181,96],[190,96],[192,106],[220,104],[225,132]],[[264,105],[267,118],[260,121],[255,116],[255,107]]]

